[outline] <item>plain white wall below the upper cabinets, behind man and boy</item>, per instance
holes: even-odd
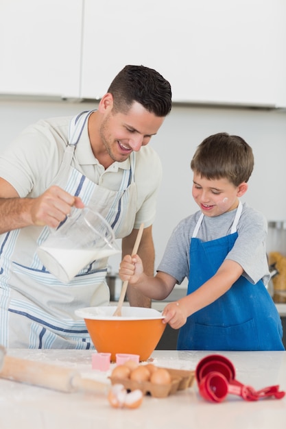
[[[23,127],[38,119],[77,114],[96,107],[95,103],[0,99],[0,151]],[[154,223],[156,265],[176,223],[197,210],[191,197],[189,164],[195,148],[206,136],[216,132],[238,134],[252,146],[255,167],[244,200],[261,210],[268,221],[286,221],[286,112],[174,106],[150,143],[160,154],[164,172]],[[270,250],[274,246],[271,234],[268,238]],[[286,234],[281,237],[283,243],[279,243],[279,250],[286,254]],[[111,260],[114,271],[118,269],[119,260],[119,257]]]

